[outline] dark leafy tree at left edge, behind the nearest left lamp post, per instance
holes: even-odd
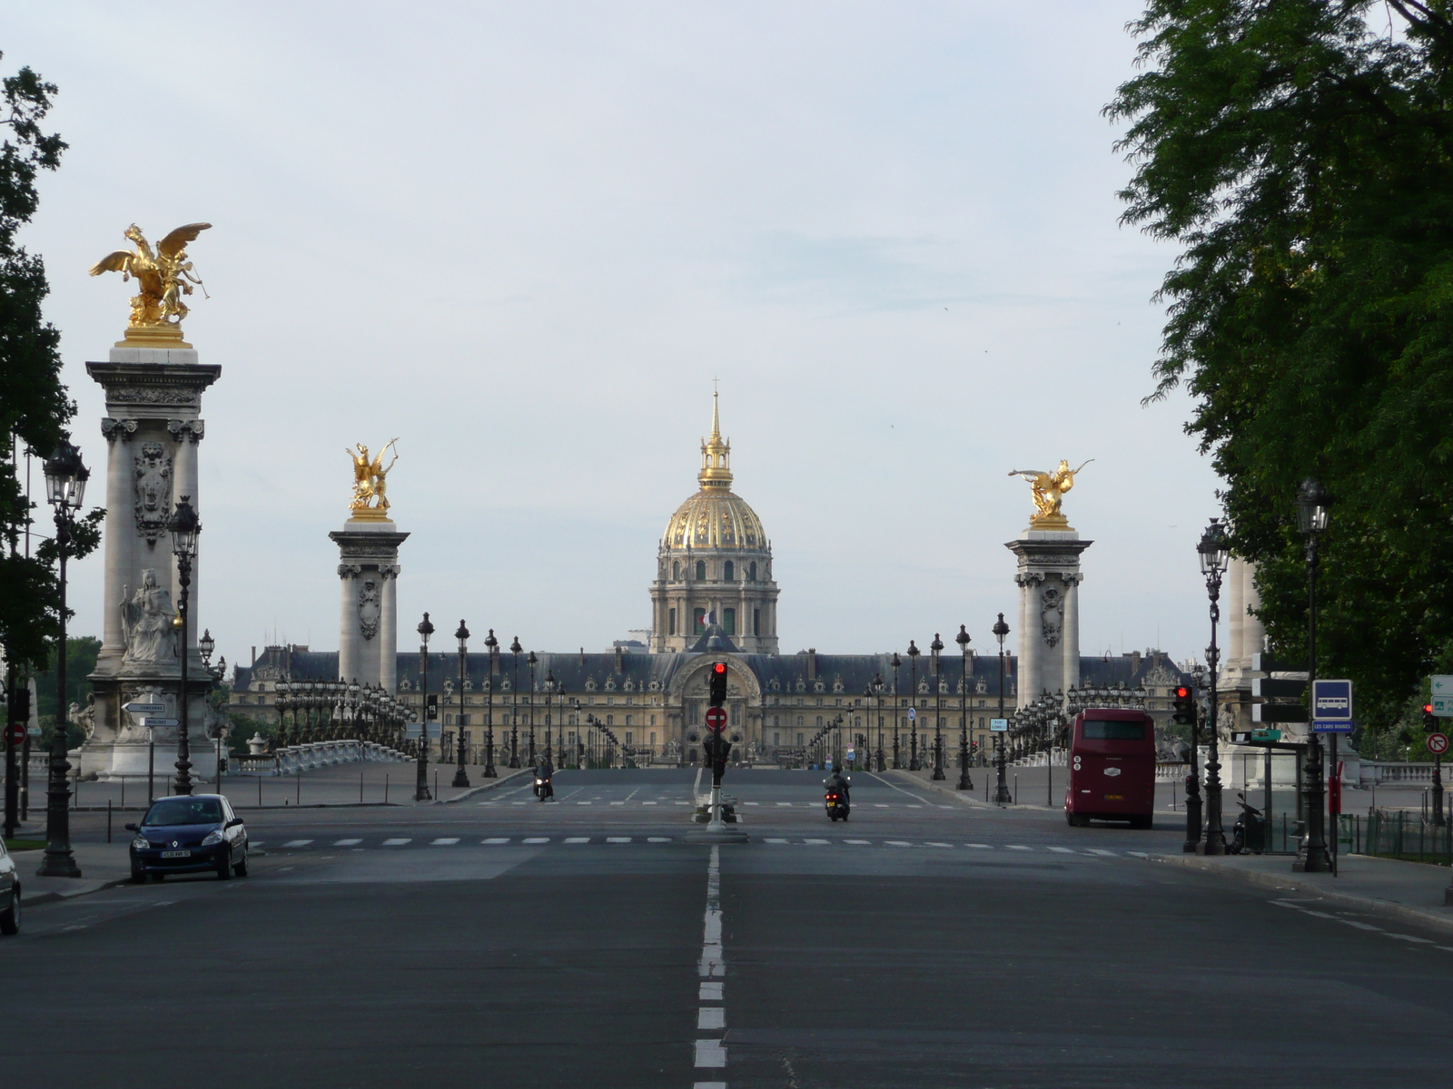
[[[3,55],[3,54],[0,54]],[[55,170],[65,142],[41,131],[55,84],[29,68],[0,80],[0,433],[12,450],[49,456],[76,405],[61,385],[61,334],[41,314],[49,287],[45,264],[16,241],[39,206],[35,179]],[[84,556],[100,539],[102,511],[76,526],[71,556]],[[19,547],[32,520],[15,459],[0,462],[0,645],[12,662],[44,664],[55,640],[60,587],[55,546],[45,539],[26,556]]]

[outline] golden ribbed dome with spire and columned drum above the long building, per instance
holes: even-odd
[[[665,524],[651,584],[651,650],[687,650],[716,624],[742,653],[777,653],[772,542],[757,513],[732,492],[731,443],[712,393],[712,434],[702,441],[700,491]]]

